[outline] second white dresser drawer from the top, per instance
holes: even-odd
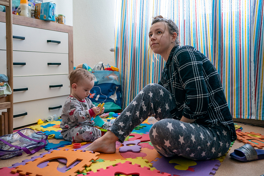
[[[13,51],[13,76],[69,73],[69,56],[62,53]],[[0,74],[6,74],[6,51],[0,50]]]

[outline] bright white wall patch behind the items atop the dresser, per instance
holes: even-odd
[[[66,25],[72,26],[72,1],[73,0],[43,0],[43,2],[52,2],[56,4],[56,14],[63,14],[66,18]]]

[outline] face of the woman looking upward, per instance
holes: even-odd
[[[152,51],[164,58],[163,55],[168,53],[170,45],[172,45],[172,37],[169,34],[167,23],[154,23],[149,29],[149,46]]]

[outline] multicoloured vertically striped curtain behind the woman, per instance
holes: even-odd
[[[263,0],[117,1],[115,60],[123,109],[160,79],[165,62],[148,44],[157,15],[175,21],[181,45],[194,46],[215,65],[233,118],[264,120]]]

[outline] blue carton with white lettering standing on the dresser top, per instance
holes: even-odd
[[[55,21],[56,4],[51,2],[41,3],[40,20]]]

